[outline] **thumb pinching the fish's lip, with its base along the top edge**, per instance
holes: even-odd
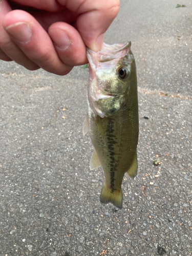
[[[50,12],[67,8],[79,14],[76,28],[84,44],[96,52],[101,50],[104,33],[119,12],[119,0],[14,0],[14,2]]]

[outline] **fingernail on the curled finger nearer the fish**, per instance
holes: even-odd
[[[62,29],[52,29],[49,34],[59,50],[67,50],[71,45],[69,36]]]

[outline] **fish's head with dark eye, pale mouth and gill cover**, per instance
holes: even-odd
[[[124,104],[136,79],[135,59],[131,42],[125,45],[103,44],[100,52],[87,50],[89,59],[88,100],[94,114],[114,115]]]

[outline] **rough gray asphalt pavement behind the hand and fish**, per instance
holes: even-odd
[[[88,70],[0,61],[0,255],[191,255],[191,13],[186,0],[121,0],[106,34],[131,40],[137,63],[139,169],[122,210],[100,204],[103,171],[89,169]]]

